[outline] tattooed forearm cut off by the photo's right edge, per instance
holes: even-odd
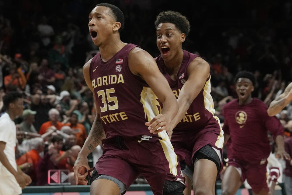
[[[268,108],[268,115],[269,116],[275,116],[276,114],[280,113],[283,108],[289,104],[289,102],[292,101],[292,83],[290,83],[285,91],[279,95],[278,98],[273,100]]]

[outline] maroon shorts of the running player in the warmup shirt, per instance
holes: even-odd
[[[237,159],[229,159],[228,166],[233,166],[241,176],[241,182],[245,179],[247,183],[252,187],[255,193],[259,193],[262,189],[269,191],[267,184],[267,160],[246,162],[239,161]]]

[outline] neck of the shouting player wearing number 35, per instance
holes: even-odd
[[[126,43],[123,43],[120,38],[113,38],[110,41],[100,45],[100,57],[103,62],[107,62],[108,60],[110,60],[125,45]]]

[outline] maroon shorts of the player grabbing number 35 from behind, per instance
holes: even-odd
[[[200,129],[180,132],[175,132],[175,130],[176,129],[173,130],[171,143],[180,163],[184,163],[193,169],[196,152],[204,146],[210,145],[218,154],[221,161],[220,167],[222,169],[222,148],[224,137],[223,130],[221,129],[217,117],[210,119],[208,124]]]

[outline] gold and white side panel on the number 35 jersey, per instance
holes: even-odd
[[[141,92],[140,102],[143,105],[145,118],[148,122],[151,121],[156,115],[159,114],[159,102],[157,101],[157,97],[150,87],[143,87]]]

